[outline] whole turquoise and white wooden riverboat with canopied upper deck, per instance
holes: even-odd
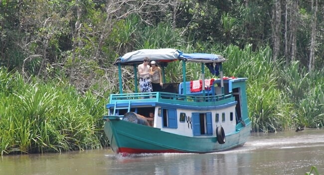
[[[137,87],[137,65],[145,57],[158,62],[163,75],[168,62],[182,62],[183,81],[164,83],[162,92],[139,93],[135,88],[134,93],[124,93],[121,67],[134,67]],[[111,149],[122,154],[212,153],[244,145],[251,130],[247,78],[225,79],[224,61],[220,55],[168,48],[142,49],[119,57],[114,64],[119,67],[120,92],[110,95],[108,115],[103,116]],[[201,80],[186,81],[187,62],[201,64]],[[205,79],[205,66],[219,78]],[[200,89],[193,89],[199,83]],[[144,117],[150,112],[154,112],[153,126]]]

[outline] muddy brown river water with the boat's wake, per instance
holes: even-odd
[[[0,175],[324,175],[324,130],[252,133],[240,148],[212,154],[141,154],[110,149],[0,157]]]

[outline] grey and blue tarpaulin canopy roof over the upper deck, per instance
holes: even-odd
[[[225,62],[226,59],[221,55],[210,53],[183,53],[177,49],[162,48],[162,49],[141,49],[133,52],[128,52],[124,56],[117,58],[114,65],[134,65],[141,64],[145,57],[151,61],[171,62],[184,60],[189,62],[200,63],[219,63]]]

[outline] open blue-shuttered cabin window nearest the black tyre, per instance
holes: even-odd
[[[194,136],[212,135],[211,113],[192,113],[192,126]]]

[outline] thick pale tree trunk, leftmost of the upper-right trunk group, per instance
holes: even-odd
[[[281,5],[280,0],[275,0],[275,17],[273,33],[273,60],[276,61],[280,52],[280,24],[281,24]]]

